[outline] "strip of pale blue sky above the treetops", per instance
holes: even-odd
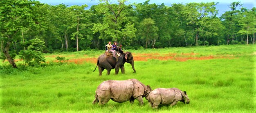
[[[96,5],[99,3],[99,0],[37,0],[41,3],[46,3],[50,5],[58,5],[58,4],[66,4],[68,6],[72,5],[82,5],[87,4],[88,9],[92,5]],[[117,0],[110,0],[110,1],[117,1]],[[131,3],[143,3],[146,0],[128,0],[128,4]],[[150,0],[150,4],[162,4],[164,3],[166,6],[171,6],[173,3],[182,3],[186,4],[189,2],[219,2],[216,5],[216,9],[219,10],[219,15],[225,13],[225,11],[230,11],[230,8],[228,5],[232,2],[241,2],[243,4],[243,7],[246,7],[247,9],[252,9],[253,7],[256,7],[256,0]]]

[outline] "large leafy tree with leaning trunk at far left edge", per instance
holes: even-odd
[[[21,30],[34,26],[31,8],[36,7],[39,2],[34,0],[1,0],[0,1],[0,41],[1,50],[9,63],[17,68],[14,57],[10,55],[9,49],[13,42],[20,37]],[[19,34],[20,33],[20,34]]]

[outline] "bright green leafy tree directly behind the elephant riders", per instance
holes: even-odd
[[[125,5],[127,0],[117,0],[118,4],[111,4],[110,0],[100,1],[103,3],[95,10],[102,15],[102,22],[94,24],[92,28],[94,34],[99,33],[99,39],[119,41],[129,45],[130,39],[135,37],[136,32],[134,24],[131,24],[130,19],[126,17],[132,7]]]

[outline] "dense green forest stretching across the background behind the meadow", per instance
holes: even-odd
[[[33,56],[40,62],[42,52],[103,50],[108,41],[122,43],[125,49],[255,42],[255,7],[232,2],[227,6],[230,11],[217,17],[216,2],[166,6],[149,1],[99,0],[86,9],[87,4],[1,0],[0,59],[16,67],[16,55]]]

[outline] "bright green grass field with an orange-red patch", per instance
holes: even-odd
[[[94,70],[103,51],[44,54],[48,63],[56,56],[68,63],[28,68],[0,69],[1,113],[255,113],[256,46],[200,46],[130,50],[136,73],[126,63],[126,74],[99,76]],[[22,63],[22,61],[18,61]],[[7,61],[1,65],[6,65]],[[129,102],[93,105],[97,86],[104,80],[136,78],[152,89],[177,87],[187,91],[190,104],[152,109]]]

